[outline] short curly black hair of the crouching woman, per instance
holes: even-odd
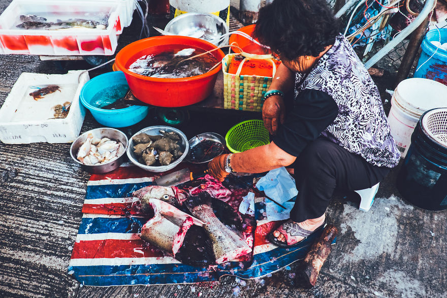
[[[326,0],[274,0],[260,9],[254,28],[254,37],[290,60],[318,56],[338,34]]]

